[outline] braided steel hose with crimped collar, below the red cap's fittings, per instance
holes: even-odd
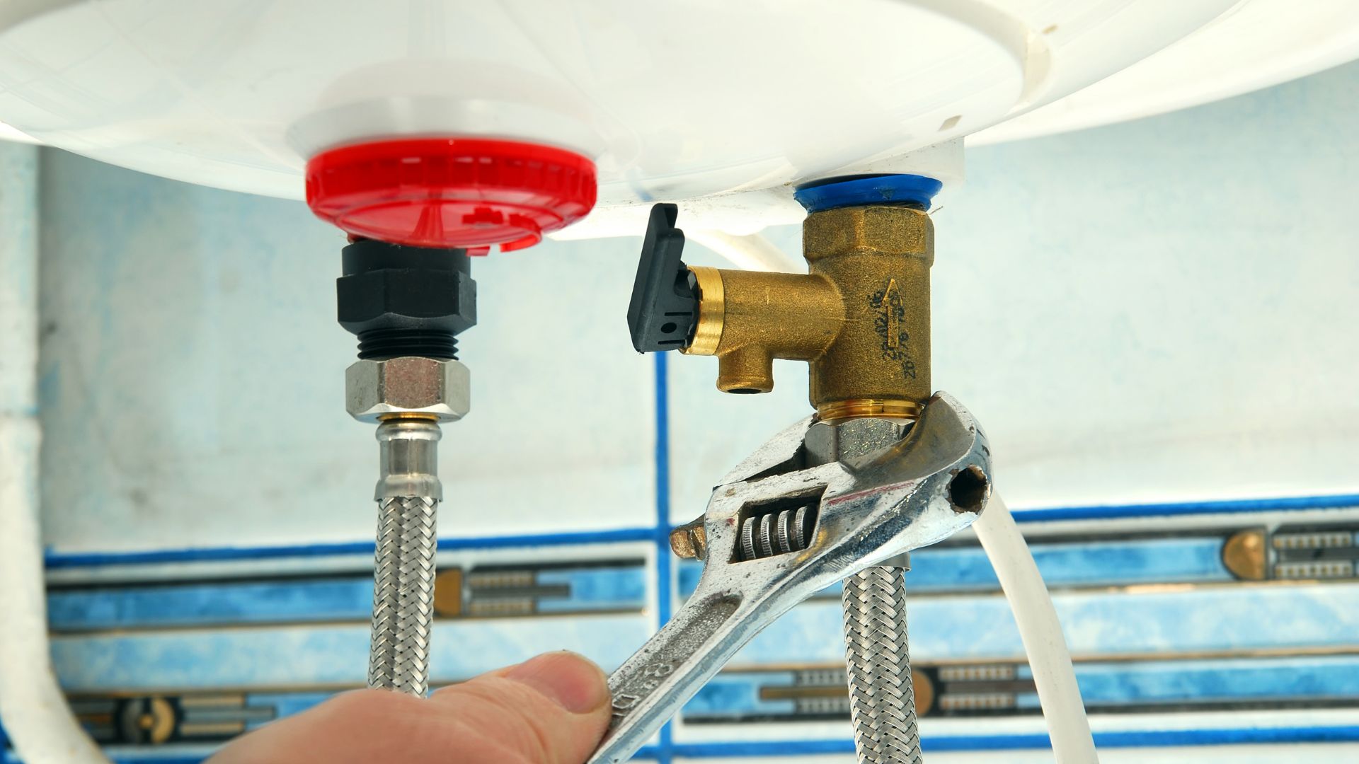
[[[391,419],[378,426],[378,546],[374,556],[368,687],[424,695],[434,624],[439,426]]]

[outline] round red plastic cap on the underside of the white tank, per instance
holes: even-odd
[[[307,162],[317,218],[356,237],[472,254],[538,243],[590,212],[595,192],[590,159],[508,140],[381,140]]]

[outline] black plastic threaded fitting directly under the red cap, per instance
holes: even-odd
[[[458,333],[477,324],[477,283],[466,250],[359,239],[336,280],[340,325],[360,359],[458,358]]]

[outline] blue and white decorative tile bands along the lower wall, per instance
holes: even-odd
[[[1192,750],[1205,756],[1223,744],[1359,737],[1359,502],[1341,503],[1019,514],[1101,746],[1176,760],[1161,749],[1203,746]],[[616,666],[696,583],[696,567],[652,540],[587,538],[448,538],[434,684],[563,647]],[[1261,552],[1248,560],[1256,567],[1231,552],[1242,540]],[[360,546],[54,555],[53,655],[77,712],[136,756],[193,757],[357,687],[371,564],[371,545]],[[1041,752],[1031,676],[976,541],[951,540],[912,563],[927,750]],[[658,597],[666,580],[674,589]],[[832,589],[757,636],[646,754],[847,756],[843,651]],[[137,726],[148,716],[149,730]],[[1344,754],[1329,760],[1343,761],[1356,749],[1335,750]]]

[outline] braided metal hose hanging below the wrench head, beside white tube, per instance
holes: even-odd
[[[849,718],[860,764],[923,761],[906,647],[904,574],[897,566],[874,566],[844,585]]]

